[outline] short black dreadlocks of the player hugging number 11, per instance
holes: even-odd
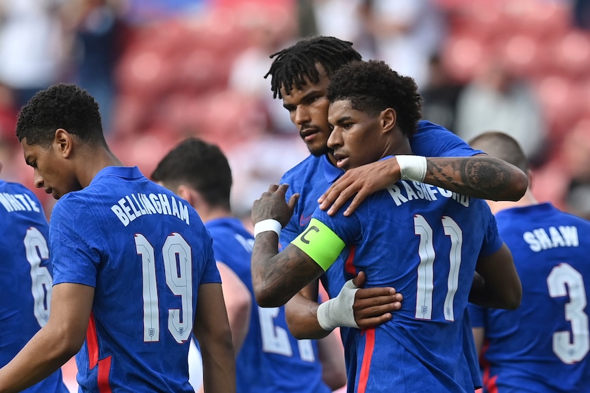
[[[264,75],[271,75],[270,90],[274,98],[283,98],[281,87],[287,94],[292,85],[298,89],[305,85],[305,77],[313,83],[320,81],[316,64],[320,63],[328,75],[348,64],[360,60],[361,55],[352,49],[352,42],[335,37],[316,36],[303,38],[292,46],[270,55],[274,59],[270,70]]]

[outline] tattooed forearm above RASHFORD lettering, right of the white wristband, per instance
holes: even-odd
[[[528,186],[524,172],[500,159],[432,157],[424,182],[461,195],[487,200],[520,200]]]

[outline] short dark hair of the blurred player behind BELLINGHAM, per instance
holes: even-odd
[[[190,137],[170,150],[151,175],[168,188],[192,187],[211,206],[230,208],[231,169],[220,148]]]

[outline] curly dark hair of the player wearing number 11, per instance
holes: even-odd
[[[377,115],[387,108],[396,110],[396,124],[411,137],[422,118],[422,97],[410,77],[404,77],[382,61],[352,62],[330,78],[328,99],[350,100],[354,109]]]

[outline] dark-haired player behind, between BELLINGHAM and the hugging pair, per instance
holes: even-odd
[[[151,177],[189,202],[214,240],[233,329],[238,392],[328,393],[341,388],[346,383],[344,355],[334,334],[319,342],[297,340],[289,334],[283,307],[251,307],[254,238],[231,213],[231,169],[221,150],[201,139],[185,139]],[[327,385],[322,369],[330,376]]]

